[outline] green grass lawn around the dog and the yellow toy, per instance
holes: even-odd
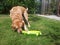
[[[0,15],[0,45],[60,45],[60,21],[29,15],[29,30],[39,30],[42,35],[18,34],[11,29],[9,15]]]

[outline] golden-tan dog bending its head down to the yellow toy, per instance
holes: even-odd
[[[28,8],[23,6],[15,6],[10,10],[10,18],[12,20],[12,28],[17,30],[18,33],[22,32],[22,28],[28,31],[30,24],[28,22]]]

